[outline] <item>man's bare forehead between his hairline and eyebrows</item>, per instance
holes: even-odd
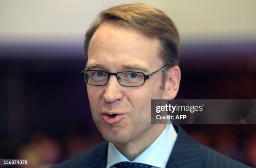
[[[137,30],[113,22],[104,22],[93,35],[88,49],[88,63],[118,67],[122,64],[141,64],[159,67],[160,42]]]

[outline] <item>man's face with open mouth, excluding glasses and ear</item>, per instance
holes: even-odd
[[[150,74],[161,67],[159,40],[115,23],[104,22],[88,50],[86,69]],[[161,72],[143,86],[121,86],[111,75],[107,85],[87,85],[92,117],[106,141],[127,143],[155,131],[151,125],[151,99],[162,99]],[[118,114],[115,117],[109,116]],[[150,134],[148,134],[150,136]]]

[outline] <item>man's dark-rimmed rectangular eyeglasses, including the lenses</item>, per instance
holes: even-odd
[[[143,72],[133,71],[111,73],[97,70],[83,70],[81,74],[82,78],[84,79],[84,82],[90,85],[106,85],[109,81],[110,75],[114,75],[120,85],[128,87],[137,87],[142,86],[147,79],[151,78],[158,72],[164,70],[166,67],[167,66],[164,66],[161,69],[152,72],[148,75],[145,75]]]

